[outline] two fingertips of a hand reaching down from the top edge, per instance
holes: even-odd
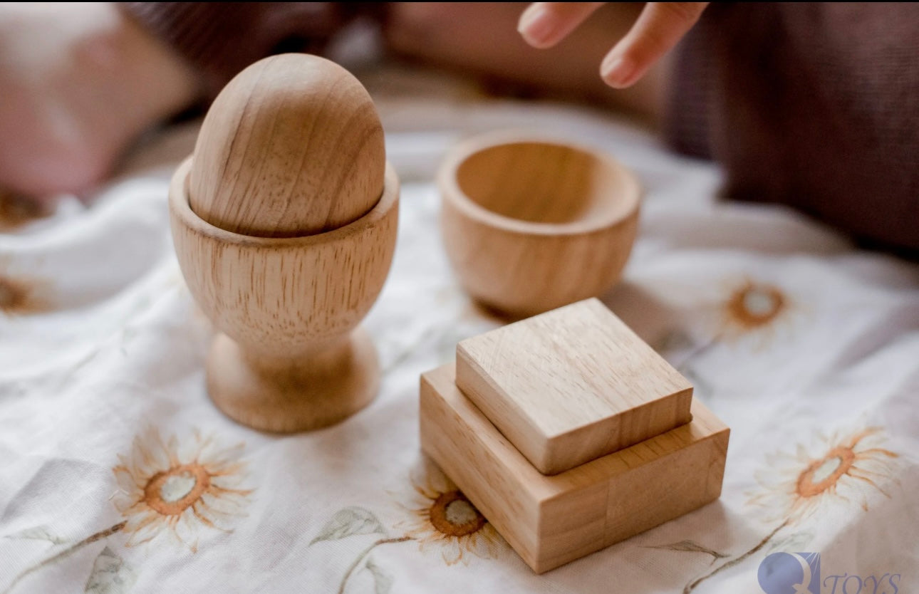
[[[604,2],[534,2],[520,15],[517,30],[531,46],[550,48]],[[649,2],[629,32],[600,63],[600,78],[614,88],[635,84],[698,21],[708,2]]]

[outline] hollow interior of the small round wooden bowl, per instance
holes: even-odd
[[[634,179],[612,159],[540,141],[473,152],[456,172],[459,190],[498,215],[533,223],[615,222],[638,200]]]

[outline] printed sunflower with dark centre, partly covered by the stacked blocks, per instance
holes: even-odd
[[[412,483],[411,501],[400,506],[409,519],[395,527],[417,541],[421,551],[438,549],[448,566],[468,564],[471,555],[495,559],[502,554],[505,540],[442,472],[429,467],[425,480]]]

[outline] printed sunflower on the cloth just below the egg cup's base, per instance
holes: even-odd
[[[233,521],[244,517],[252,489],[240,488],[245,463],[243,446],[220,449],[212,438],[195,432],[193,442],[180,447],[153,432],[134,443],[130,457],[119,454],[112,468],[119,482],[115,506],[127,521],[127,545],[148,543],[170,534],[194,553],[199,532],[232,532]]]

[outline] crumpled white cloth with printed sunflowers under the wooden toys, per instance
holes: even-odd
[[[371,85],[403,179],[365,321],[382,387],[335,427],[251,431],[207,397],[210,325],[166,210],[193,129],[92,207],[0,234],[0,592],[734,594],[764,591],[759,565],[783,551],[821,554],[824,593],[919,590],[919,267],[785,208],[718,203],[717,169],[602,113],[407,80]],[[543,576],[418,447],[418,375],[499,323],[448,269],[433,176],[459,137],[507,128],[640,176],[641,234],[604,300],[732,428],[718,502]]]

